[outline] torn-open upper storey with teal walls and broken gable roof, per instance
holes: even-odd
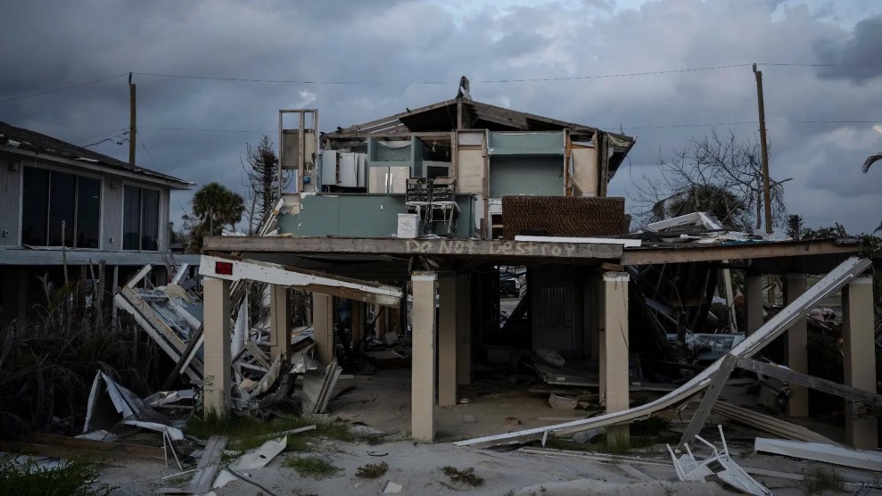
[[[498,238],[503,196],[606,196],[635,143],[467,98],[337,128],[322,136],[319,160],[314,132],[280,129],[282,167],[296,170],[284,193],[301,195],[283,194],[279,227],[294,236],[393,236],[408,179],[450,178],[455,236]]]

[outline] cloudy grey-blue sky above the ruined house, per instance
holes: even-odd
[[[755,136],[757,62],[788,211],[852,232],[882,219],[882,163],[860,171],[882,152],[877,0],[9,0],[0,32],[0,120],[114,138],[136,72],[138,162],[238,190],[278,109],[316,107],[332,130],[451,98],[466,75],[476,100],[637,136],[610,189],[629,197],[693,136]],[[114,139],[93,148],[128,160]]]

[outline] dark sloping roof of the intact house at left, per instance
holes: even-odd
[[[164,182],[173,183],[172,187],[176,189],[188,189],[190,186],[193,186],[193,183],[184,179],[128,164],[102,153],[93,152],[82,146],[73,145],[29,129],[16,128],[2,121],[0,121],[0,146],[17,148],[26,152],[45,153],[72,161],[104,166],[107,169],[124,170],[146,178],[161,179]]]

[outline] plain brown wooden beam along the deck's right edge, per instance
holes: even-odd
[[[779,243],[744,243],[724,246],[639,248],[622,253],[622,265],[652,265],[695,261],[765,259],[787,256],[857,254],[860,244],[835,244],[830,240]]]

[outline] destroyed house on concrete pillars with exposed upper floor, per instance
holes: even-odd
[[[338,364],[407,364],[418,440],[433,441],[438,419],[462,404],[491,403],[476,384],[486,387],[494,374],[513,374],[515,383],[532,376],[532,385],[515,389],[545,394],[545,408],[571,405],[573,420],[549,425],[541,415],[505,410],[497,418],[514,418],[499,425],[506,434],[461,444],[544,442],[595,427],[627,436],[632,420],[688,403],[725,382],[733,367],[754,367],[751,357],[785,332],[787,365],[807,373],[804,316],[840,289],[846,385],[875,388],[872,291],[863,277],[869,262],[854,241],[730,232],[703,212],[629,234],[624,199],[606,197],[606,185],[634,140],[596,128],[461,97],[325,135],[317,112],[279,114],[279,172],[287,176],[279,181],[278,236],[205,240],[204,373],[213,383],[203,393],[218,413],[240,394],[234,370],[242,356],[261,356],[281,377],[298,374],[299,366],[284,364],[309,352],[326,367],[322,391],[334,388]],[[286,124],[291,118],[297,125]],[[731,271],[745,280],[741,325]],[[500,273],[517,279],[515,291],[507,289],[515,299],[500,298]],[[807,274],[827,276],[807,287]],[[765,321],[764,300],[774,300],[762,282],[769,275],[781,277],[784,295]],[[263,327],[251,332],[244,348],[259,350],[231,356],[244,281],[270,286],[268,335]],[[308,308],[295,310],[305,315],[296,326],[292,288],[310,293],[301,300]],[[714,320],[708,314],[717,298],[727,315]],[[503,303],[511,305],[506,315]],[[717,331],[727,335],[716,338]],[[680,367],[668,353],[690,345],[698,359]],[[793,391],[787,412],[807,416],[807,388]],[[534,397],[518,401],[523,409],[535,404]],[[499,409],[512,409],[508,403]],[[581,404],[606,413],[586,418]],[[846,442],[876,446],[875,420],[845,422]]]

